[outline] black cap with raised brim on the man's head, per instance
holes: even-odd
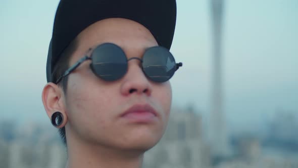
[[[49,43],[46,79],[72,40],[89,25],[107,18],[125,18],[142,24],[159,46],[170,50],[176,25],[176,0],[61,0]]]

